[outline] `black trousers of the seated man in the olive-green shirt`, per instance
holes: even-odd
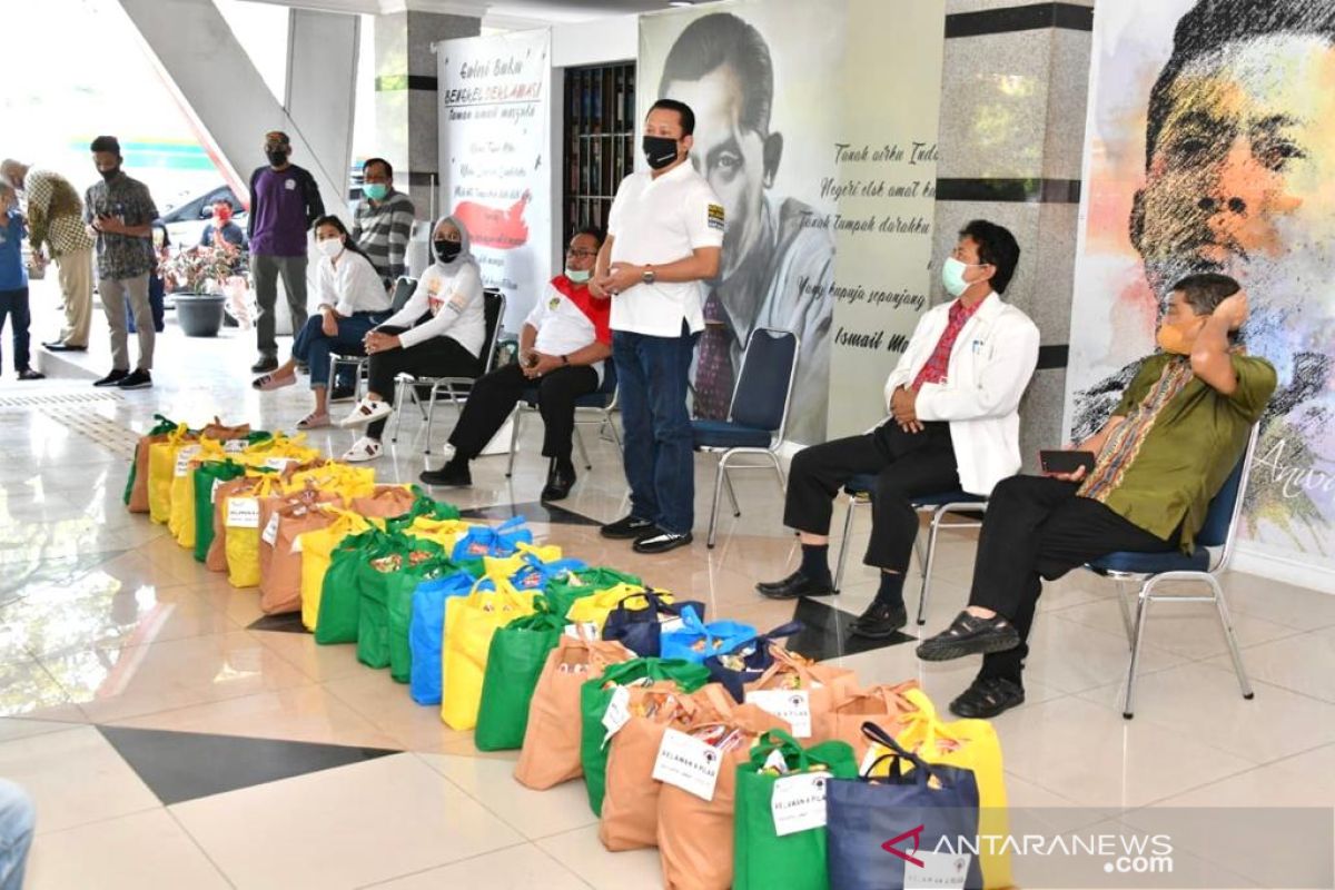
[[[1055,580],[1072,568],[1111,552],[1163,552],[1177,547],[1177,534],[1164,540],[1132,524],[1105,504],[1080,498],[1073,482],[1047,476],[1003,479],[988,498],[979,535],[971,606],[1005,616],[1028,640],[1043,578]],[[1029,654],[1027,642],[983,659],[980,677],[1016,682]]]

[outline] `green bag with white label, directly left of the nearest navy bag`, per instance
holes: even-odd
[[[772,758],[781,758],[788,773],[776,769]],[[857,759],[848,742],[802,747],[782,730],[760,737],[750,761],[737,767],[734,890],[829,889],[825,807],[802,806],[824,794],[828,778],[857,778]]]

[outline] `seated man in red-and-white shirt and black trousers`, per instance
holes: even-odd
[[[611,355],[611,306],[589,294],[602,234],[582,228],[566,250],[566,272],[551,279],[519,332],[519,360],[479,379],[450,434],[454,456],[419,478],[430,486],[471,486],[469,462],[482,454],[525,390],[537,387],[546,428],[542,455],[550,459],[543,500],[561,500],[575,483],[570,460],[575,399],[594,392]]]

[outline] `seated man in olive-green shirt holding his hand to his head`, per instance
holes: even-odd
[[[1096,455],[1093,471],[997,484],[969,606],[917,648],[929,662],[984,655],[953,713],[995,717],[1024,701],[1025,640],[1044,578],[1111,552],[1192,551],[1210,500],[1275,391],[1270,362],[1232,346],[1246,319],[1234,279],[1181,279],[1159,326],[1163,352],[1140,362],[1108,422],[1076,446]]]

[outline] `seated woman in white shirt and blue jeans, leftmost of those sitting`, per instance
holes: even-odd
[[[320,254],[315,266],[319,312],[307,319],[306,327],[292,339],[292,358],[251,384],[266,391],[292,386],[296,383],[296,363],[308,363],[315,410],[298,422],[302,430],[330,424],[330,354],[366,355],[366,332],[390,311],[384,283],[347,234],[343,220],[338,216],[315,220],[315,250]]]

